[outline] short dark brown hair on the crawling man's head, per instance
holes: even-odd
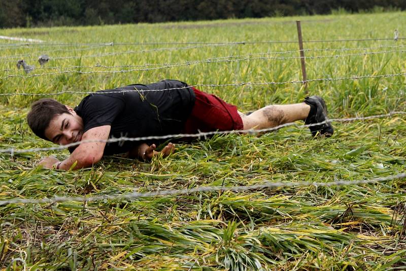
[[[44,98],[31,105],[31,111],[27,115],[27,122],[38,137],[50,141],[45,137],[45,129],[48,128],[54,117],[63,113],[71,114],[59,101]]]

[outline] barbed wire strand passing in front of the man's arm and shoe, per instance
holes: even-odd
[[[28,152],[41,152],[41,151],[56,151],[56,150],[63,150],[70,147],[78,146],[82,143],[96,143],[96,142],[103,142],[103,143],[115,143],[115,142],[125,142],[125,141],[147,141],[147,140],[161,140],[161,139],[176,139],[176,138],[207,138],[210,136],[214,136],[215,134],[230,134],[230,133],[249,133],[249,134],[259,134],[263,132],[270,132],[276,131],[284,127],[288,126],[296,126],[297,128],[306,128],[312,126],[318,126],[325,124],[327,122],[349,122],[349,121],[356,121],[356,120],[370,120],[370,119],[377,119],[377,118],[384,118],[390,117],[393,115],[405,115],[406,112],[404,111],[392,111],[387,114],[379,114],[379,115],[371,115],[366,117],[352,117],[352,118],[341,118],[341,119],[327,119],[322,122],[313,123],[313,124],[305,124],[299,125],[295,122],[289,122],[285,124],[281,124],[272,128],[265,128],[265,129],[241,129],[241,130],[227,130],[227,131],[210,131],[210,132],[199,132],[199,133],[178,133],[178,134],[167,134],[164,136],[147,136],[147,137],[137,137],[137,138],[128,138],[128,137],[120,137],[120,138],[111,138],[108,140],[83,140],[80,142],[74,142],[71,144],[56,146],[56,147],[48,147],[48,148],[32,148],[32,149],[14,149],[14,148],[6,148],[0,149],[0,153],[10,153],[12,156],[17,153],[28,153]]]

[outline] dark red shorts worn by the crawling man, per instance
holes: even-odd
[[[198,131],[227,131],[243,129],[243,120],[236,106],[212,94],[201,92],[192,87],[196,100],[189,118],[186,120],[184,133],[198,133]]]

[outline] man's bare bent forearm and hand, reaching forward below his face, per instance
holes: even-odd
[[[75,162],[76,165],[73,167],[74,170],[92,166],[100,161],[101,157],[103,157],[106,141],[108,140],[110,134],[110,129],[110,125],[89,129],[83,134],[82,141],[100,140],[104,142],[81,143],[65,160],[58,161],[55,157],[49,156],[41,160],[39,165],[43,165],[44,167],[48,168],[57,167],[60,170],[69,170]]]

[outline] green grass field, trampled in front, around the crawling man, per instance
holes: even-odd
[[[395,28],[400,37],[405,35],[405,15],[4,29],[4,36],[40,39],[46,44],[16,46],[15,41],[0,40],[0,93],[87,92],[162,79],[190,85],[296,81],[301,80],[300,59],[286,57],[299,56],[297,43],[119,43],[295,41],[296,19],[301,19],[305,41],[393,38]],[[110,42],[114,45],[72,45]],[[307,51],[306,56],[340,55],[307,59],[309,79],[406,72],[404,40],[305,43],[304,47],[324,49]],[[271,52],[285,53],[255,55]],[[37,58],[44,53],[51,60],[46,69],[38,69]],[[236,55],[243,56],[223,58],[238,61],[193,62]],[[269,56],[285,59],[265,58]],[[37,66],[30,76],[66,73],[9,77],[26,76],[16,70],[21,58]],[[140,66],[106,67],[117,65]],[[157,69],[125,71],[152,67]],[[309,92],[325,98],[331,118],[370,116],[406,111],[405,83],[404,75],[315,81],[309,83]],[[297,83],[200,89],[243,112],[296,103],[306,96]],[[52,97],[76,106],[84,96]],[[45,96],[0,96],[0,148],[52,147],[33,136],[25,122],[29,105],[41,97]],[[177,145],[173,155],[151,163],[106,157],[93,168],[75,172],[36,167],[43,156],[63,159],[69,154],[66,150],[13,157],[0,153],[0,200],[367,180],[405,172],[405,115],[333,125],[335,133],[328,139],[312,139],[308,128],[294,126],[262,137],[228,134]],[[1,205],[0,270],[402,269],[406,266],[405,199],[406,180],[394,179],[362,185]]]

